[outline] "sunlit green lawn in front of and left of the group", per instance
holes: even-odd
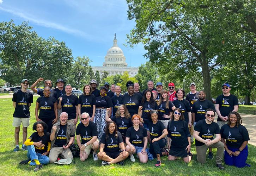
[[[34,97],[31,112],[31,125],[28,127],[28,137],[32,134],[32,124],[35,120],[35,102]],[[0,170],[2,175],[255,175],[256,174],[256,147],[249,145],[249,156],[247,163],[251,164],[250,168],[236,168],[234,166],[225,166],[225,170],[219,170],[215,166],[215,158],[207,159],[207,164],[200,164],[196,161],[195,145],[192,145],[194,157],[189,164],[185,164],[182,159],[170,162],[167,157],[162,157],[162,165],[156,168],[154,164],[156,159],[142,164],[135,156],[136,162],[132,163],[126,159],[124,166],[113,164],[110,166],[101,166],[101,161],[93,161],[92,156],[85,162],[80,162],[75,158],[70,165],[48,164],[43,166],[38,172],[32,170],[35,166],[19,165],[18,163],[26,159],[26,152],[12,152],[14,143],[14,127],[12,126],[12,114],[14,108],[11,98],[0,99]],[[20,145],[22,144],[22,133],[20,133]],[[216,149],[213,149],[215,155]]]

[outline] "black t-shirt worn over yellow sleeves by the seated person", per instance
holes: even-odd
[[[44,132],[43,136],[39,136],[37,132],[34,132],[34,133],[31,134],[29,139],[31,139],[35,143],[41,141],[41,143],[44,144],[43,147],[37,147],[37,146],[34,145],[36,153],[43,154],[43,153],[47,152],[47,150],[48,150],[48,142],[51,142],[51,140],[50,140],[50,133]]]

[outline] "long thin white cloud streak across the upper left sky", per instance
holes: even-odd
[[[0,4],[1,4],[1,1],[2,0],[0,0]],[[20,18],[23,18],[25,20],[36,23],[37,25],[40,25],[40,26],[50,27],[50,28],[53,28],[53,29],[61,30],[61,31],[66,32],[66,33],[71,33],[71,34],[75,34],[77,36],[81,36],[83,38],[91,38],[89,35],[87,35],[83,31],[80,31],[80,30],[77,30],[77,29],[72,29],[72,28],[69,28],[69,27],[65,27],[65,26],[62,26],[60,24],[53,23],[53,22],[50,22],[50,21],[45,21],[43,19],[36,19],[34,17],[31,17],[30,14],[24,14],[24,13],[18,12],[16,10],[14,11],[14,10],[5,9],[5,8],[2,8],[2,7],[0,7],[0,10],[11,13],[13,15],[16,15],[16,16],[20,17]]]

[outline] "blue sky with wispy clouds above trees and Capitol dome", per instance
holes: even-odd
[[[143,45],[123,45],[135,26],[127,9],[125,0],[0,0],[0,21],[29,21],[39,36],[65,42],[74,58],[88,56],[92,66],[102,66],[116,33],[128,66],[139,67],[148,61]]]

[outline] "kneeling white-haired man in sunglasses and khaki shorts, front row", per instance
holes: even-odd
[[[80,148],[81,161],[85,161],[88,158],[91,149],[93,149],[93,160],[98,160],[96,153],[99,148],[97,126],[90,121],[90,115],[87,112],[81,114],[81,123],[77,126],[77,144]]]

